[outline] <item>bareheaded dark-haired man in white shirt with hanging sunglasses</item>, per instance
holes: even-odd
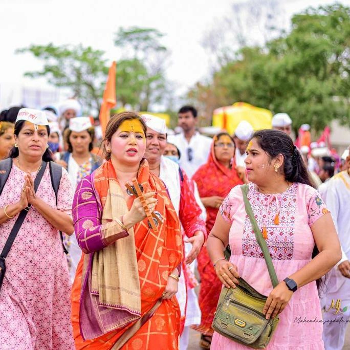
[[[192,106],[183,106],[179,111],[178,125],[183,132],[169,135],[168,142],[176,145],[181,152],[180,166],[192,178],[196,170],[208,160],[212,139],[196,131],[197,111]]]

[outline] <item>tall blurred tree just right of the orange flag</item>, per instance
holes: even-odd
[[[152,28],[120,28],[115,45],[123,49],[124,59],[117,64],[117,100],[124,105],[147,111],[160,103],[168,91],[165,77],[167,49],[160,40],[164,36]]]

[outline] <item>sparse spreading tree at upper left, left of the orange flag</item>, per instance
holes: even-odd
[[[43,61],[40,71],[26,72],[29,77],[45,77],[59,88],[70,88],[74,97],[83,102],[88,111],[99,111],[104,84],[108,74],[104,51],[90,46],[31,45],[16,53],[31,53]]]

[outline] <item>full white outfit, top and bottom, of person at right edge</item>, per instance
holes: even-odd
[[[350,177],[347,171],[342,171],[328,182],[326,192],[326,205],[331,211],[335,227],[342,247],[342,259],[329,273],[327,278],[327,291],[322,298],[322,307],[328,310],[332,299],[341,300],[341,309],[347,307],[345,312],[334,314],[331,309],[323,314],[323,341],[327,350],[341,350],[344,345],[345,331],[350,320],[350,278],[344,277],[338,270],[338,265],[350,259]],[[343,322],[339,321],[343,319]],[[337,319],[338,322],[334,320]],[[334,323],[330,323],[333,321]]]

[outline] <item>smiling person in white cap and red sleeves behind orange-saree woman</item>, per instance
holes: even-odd
[[[167,129],[161,118],[142,115],[147,125],[147,147],[145,157],[152,173],[162,179],[169,191],[171,202],[179,215],[183,232],[186,234],[183,272],[178,284],[177,298],[181,316],[185,317],[185,328],[180,337],[180,350],[186,350],[189,341],[189,326],[201,322],[201,311],[194,285],[190,286],[194,264],[192,261],[199,254],[205,240],[205,222],[201,219],[201,209],[196,203],[186,173],[176,162],[163,156],[167,145]],[[191,265],[189,265],[191,264]],[[187,281],[187,283],[186,283]]]

